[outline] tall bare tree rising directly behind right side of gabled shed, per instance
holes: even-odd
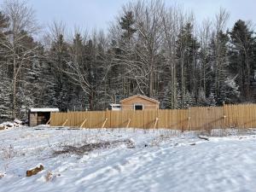
[[[154,96],[155,78],[160,65],[160,46],[162,44],[162,22],[161,14],[164,10],[164,3],[161,1],[137,1],[133,6],[136,20],[137,42],[136,49],[139,61],[144,71],[144,79],[139,84],[147,86],[148,96]]]

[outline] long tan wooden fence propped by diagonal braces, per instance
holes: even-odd
[[[256,127],[256,104],[144,111],[51,113],[51,126],[80,128],[167,128],[182,131]]]

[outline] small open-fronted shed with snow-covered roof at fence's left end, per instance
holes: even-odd
[[[31,108],[28,111],[28,125],[45,125],[50,119],[50,113],[59,111],[59,108]]]

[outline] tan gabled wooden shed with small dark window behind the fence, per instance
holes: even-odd
[[[120,101],[122,110],[159,109],[160,102],[148,96],[130,96]]]

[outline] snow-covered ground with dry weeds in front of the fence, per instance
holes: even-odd
[[[91,144],[91,143],[94,143]],[[41,163],[44,171],[26,177]],[[0,131],[0,191],[255,191],[256,137],[193,132]]]

